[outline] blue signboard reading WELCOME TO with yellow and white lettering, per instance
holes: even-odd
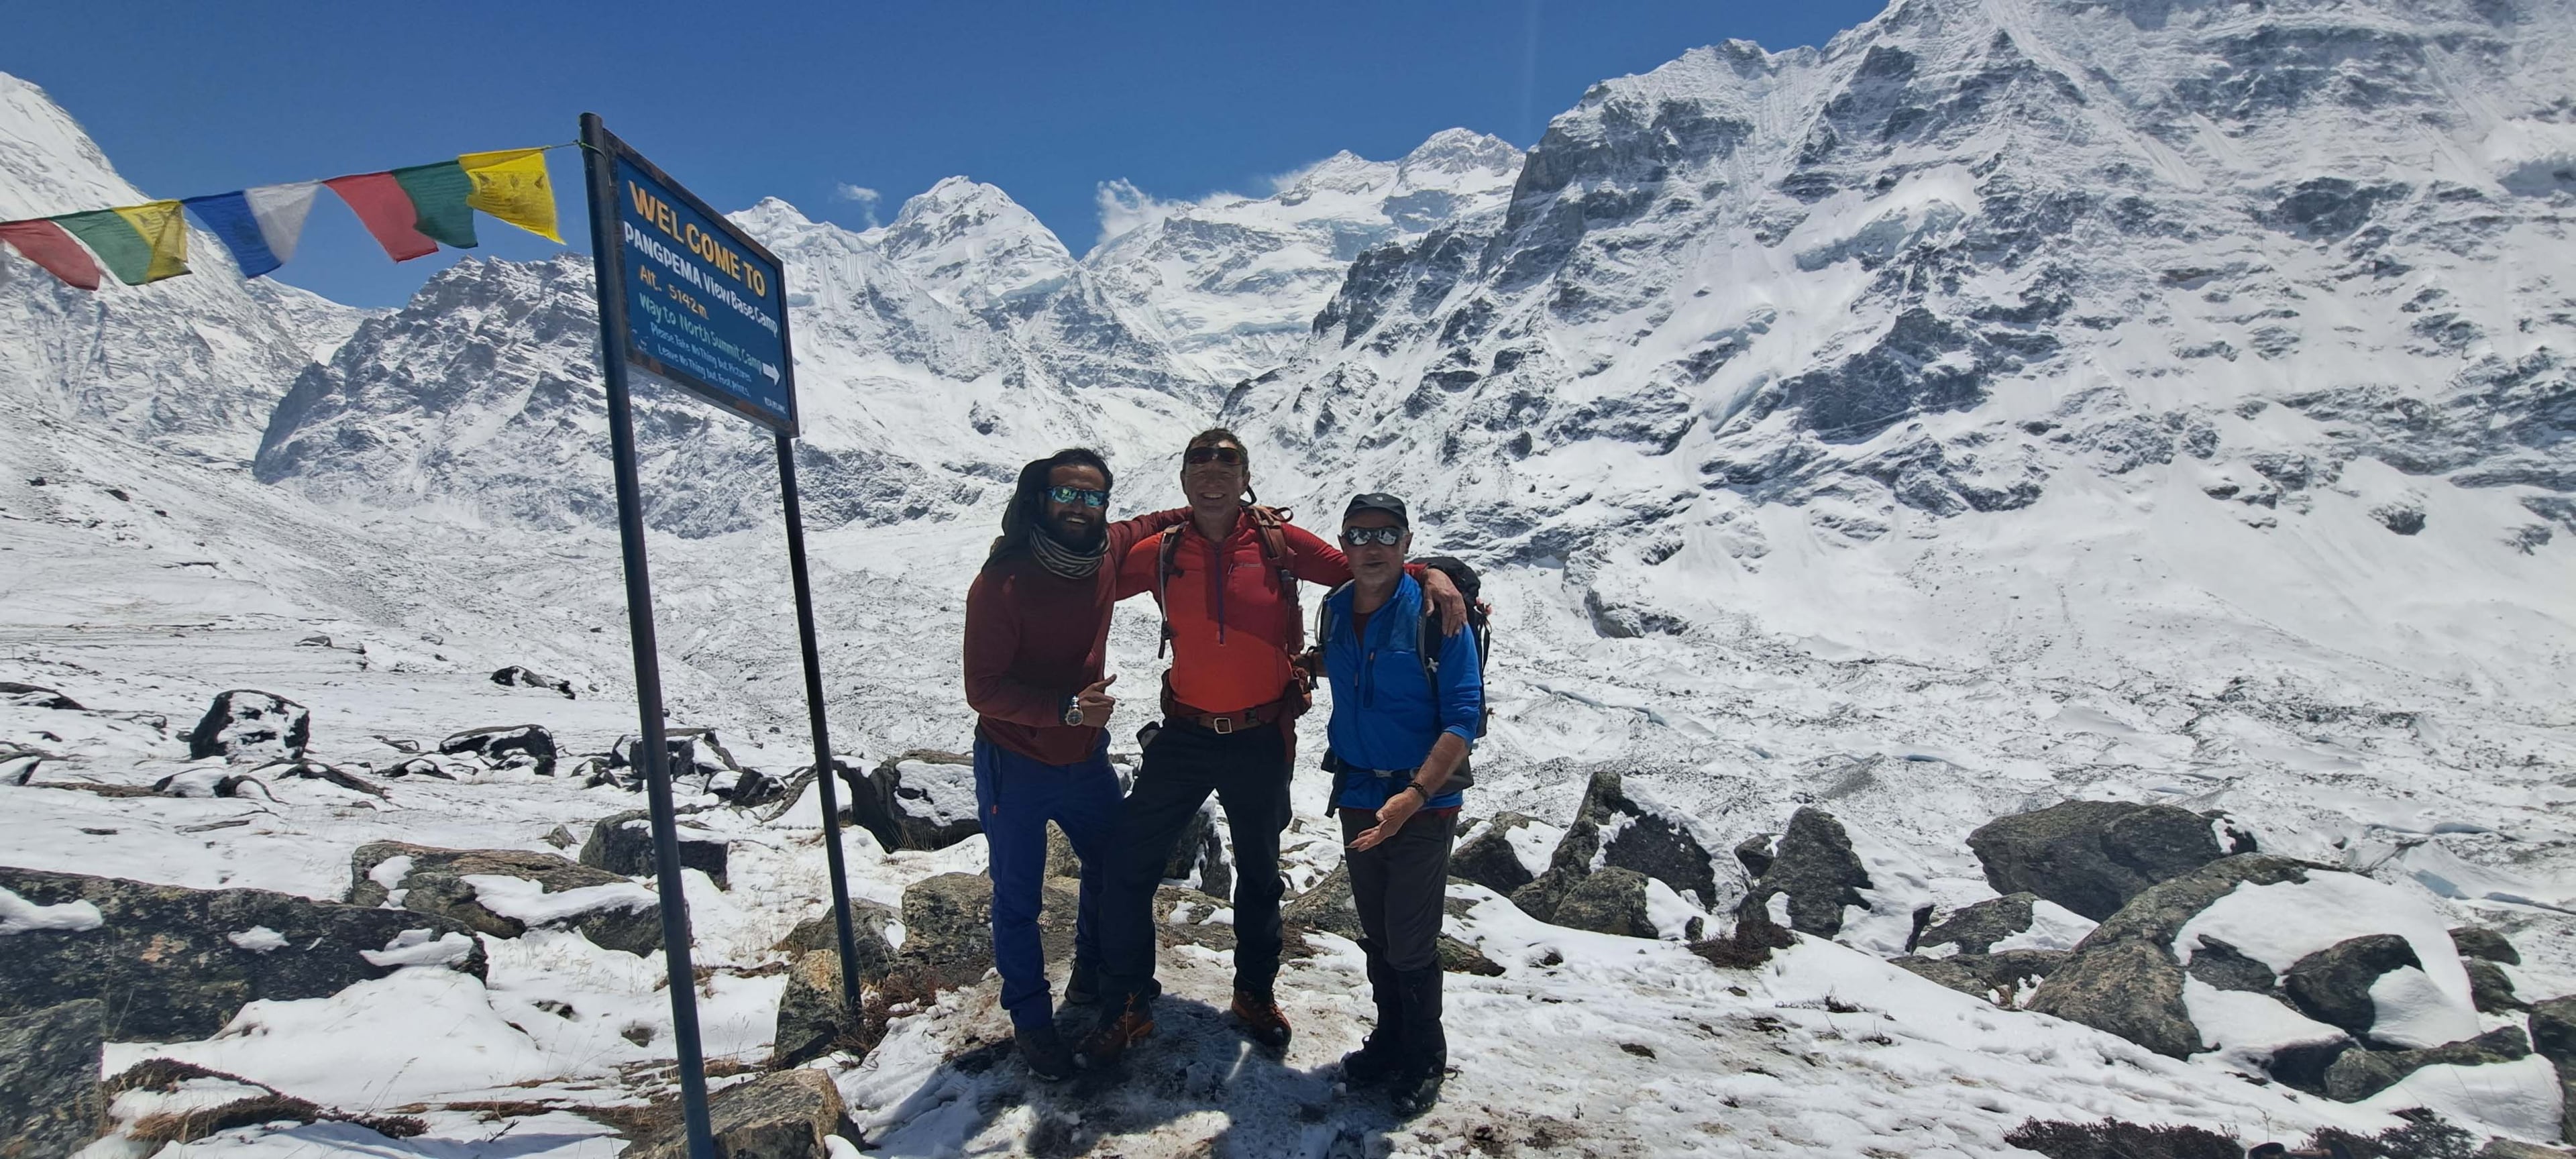
[[[793,435],[786,265],[611,142],[626,363]]]

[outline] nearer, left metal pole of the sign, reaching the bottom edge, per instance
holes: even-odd
[[[652,806],[654,883],[662,894],[662,956],[670,966],[670,1025],[680,1051],[680,1115],[690,1159],[716,1159],[706,1120],[706,1059],[698,1051],[698,981],[688,963],[688,896],[680,889],[680,832],[670,806],[670,742],[662,734],[662,659],[652,631],[652,580],[644,572],[644,502],[636,482],[634,404],[626,397],[623,270],[616,237],[616,180],[603,149],[605,124],[582,113],[582,165],[590,178],[590,252],[598,260],[600,368],[608,373],[608,446],[618,476],[618,538],[626,546],[626,623],[636,652],[636,768]]]

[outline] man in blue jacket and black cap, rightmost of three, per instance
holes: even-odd
[[[1350,585],[1324,600],[1324,677],[1350,891],[1378,1025],[1342,1059],[1350,1087],[1391,1082],[1401,1115],[1440,1100],[1440,917],[1458,834],[1466,755],[1484,719],[1476,628],[1425,631],[1422,585],[1404,574],[1412,518],[1394,495],[1360,495],[1342,513]],[[1437,654],[1425,657],[1430,646]],[[1455,780],[1455,783],[1453,783]]]

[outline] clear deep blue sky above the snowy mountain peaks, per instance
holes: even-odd
[[[1824,44],[1880,0],[1492,3],[121,3],[15,5],[0,72],[44,85],[152,196],[222,193],[569,142],[582,111],[719,209],[762,196],[866,227],[963,173],[1074,250],[1097,188],[1267,191],[1350,149],[1466,126],[1528,147],[1595,80],[1690,46]],[[554,155],[567,240],[580,175]],[[392,306],[394,265],[335,201],[281,281]],[[62,206],[100,209],[100,206]],[[497,221],[484,255],[554,245]]]

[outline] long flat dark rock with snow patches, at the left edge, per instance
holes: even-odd
[[[28,868],[0,868],[0,891],[39,914],[0,932],[0,1015],[100,999],[118,1041],[206,1038],[245,1002],[330,997],[410,963],[484,974],[471,930],[435,914]]]

